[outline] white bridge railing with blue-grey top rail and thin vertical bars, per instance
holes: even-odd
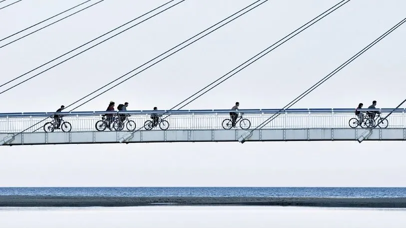
[[[279,114],[273,121],[266,124],[263,129],[286,128],[349,128],[350,118],[356,117],[354,109],[290,109],[290,110],[263,109],[240,110],[244,118],[251,121],[254,128],[274,114]],[[367,111],[380,111],[386,116],[393,109],[377,109]],[[150,114],[163,114],[169,122],[170,129],[223,129],[222,121],[230,118],[230,110],[182,110],[182,111],[127,111],[119,114],[130,114],[130,120],[136,123],[136,129],[142,127],[146,120],[151,120]],[[51,121],[54,113],[9,113],[0,114],[0,132],[26,132],[43,131],[45,122]],[[104,114],[117,114],[117,112],[71,112],[60,113],[63,119],[72,125],[72,131],[95,130],[95,123],[101,120]],[[397,109],[388,118],[389,128],[406,127],[406,110]],[[37,124],[36,124],[37,123]],[[32,125],[36,124],[33,127]],[[239,127],[239,123],[237,123]],[[159,127],[154,128],[159,129]],[[106,129],[108,130],[108,129]],[[126,130],[126,128],[124,128]],[[145,130],[144,128],[142,130]]]

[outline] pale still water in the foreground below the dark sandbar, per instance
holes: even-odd
[[[1,228],[405,228],[405,210],[296,207],[0,208]]]

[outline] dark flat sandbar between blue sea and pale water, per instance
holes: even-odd
[[[0,207],[136,206],[406,208],[406,198],[0,196]]]

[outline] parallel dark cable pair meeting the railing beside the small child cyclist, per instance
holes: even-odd
[[[254,59],[255,57],[261,55],[261,53],[264,53],[265,51],[267,51],[268,49],[270,49],[271,47],[275,46],[277,43],[279,43],[280,41],[284,40],[285,38],[289,37],[291,34],[295,33],[296,31],[300,30],[298,33],[294,34],[293,36],[291,36],[290,38],[288,38],[287,40],[285,40],[284,42],[282,42],[281,44],[277,45],[276,47],[274,47],[271,50],[268,50],[265,54],[261,55],[260,57],[258,57],[256,60],[254,60],[253,62],[249,63],[248,65],[244,66],[243,68],[241,68],[240,70],[236,71],[235,73],[233,73],[232,75],[230,75],[229,77],[227,77],[226,79],[224,79],[223,81],[221,81],[220,83],[216,84],[214,87],[210,88],[209,90],[205,91],[204,93],[200,94],[199,96],[197,96],[196,98],[194,98],[193,100],[189,101],[188,103],[186,103],[185,105],[183,105],[182,107],[178,108],[177,110],[182,109],[183,107],[185,107],[186,105],[190,104],[191,102],[195,101],[196,99],[200,98],[201,96],[203,96],[204,94],[206,94],[207,92],[209,92],[210,90],[214,89],[215,87],[217,87],[218,85],[220,85],[221,83],[223,83],[224,81],[226,81],[227,79],[231,78],[232,76],[234,76],[235,74],[237,74],[238,72],[240,72],[241,70],[245,69],[246,67],[248,67],[249,65],[251,65],[252,63],[254,63],[255,61],[257,61],[258,59],[262,58],[263,56],[265,56],[266,54],[268,54],[269,52],[271,52],[272,50],[274,50],[275,48],[279,47],[280,45],[282,45],[283,43],[287,42],[288,40],[292,39],[293,37],[295,37],[296,35],[298,35],[299,33],[301,33],[302,31],[304,31],[305,29],[307,29],[308,27],[310,27],[311,25],[315,24],[316,22],[318,22],[319,20],[323,19],[324,17],[326,17],[327,15],[329,15],[330,13],[334,12],[335,10],[337,10],[338,8],[340,8],[341,6],[343,6],[344,4],[346,4],[347,2],[349,2],[350,0],[342,0],[339,3],[337,3],[336,5],[334,5],[333,7],[329,8],[328,10],[324,11],[323,13],[321,13],[320,15],[318,15],[317,17],[315,17],[314,19],[310,20],[309,22],[307,22],[306,24],[302,25],[301,27],[299,27],[298,29],[296,29],[295,31],[291,32],[289,35],[285,36],[284,38],[280,39],[278,42],[274,43],[273,45],[271,45],[270,47],[264,49],[263,51],[261,51],[260,53],[258,53],[257,55],[255,55],[254,57],[252,57],[251,59],[247,60],[246,62],[244,62],[243,64],[239,65],[238,67],[234,68],[233,70],[231,70],[230,72],[228,72],[227,74],[225,74],[224,76],[220,77],[219,79],[217,79],[216,81],[212,82],[211,84],[209,84],[208,86],[204,87],[203,89],[201,89],[199,92],[193,94],[192,96],[190,96],[189,98],[185,99],[184,101],[182,101],[181,103],[177,104],[176,106],[174,106],[173,108],[171,108],[170,110],[167,110],[166,112],[164,112],[163,114],[167,114],[169,111],[175,109],[176,107],[180,106],[182,103],[184,103],[185,101],[189,100],[190,98],[192,98],[193,96],[195,96],[196,94],[200,93],[201,91],[203,91],[204,89],[208,88],[209,86],[213,85],[215,82],[221,80],[222,78],[226,77],[228,74],[230,74],[231,72],[235,71],[236,69],[240,68],[241,66],[243,66],[245,63],[249,62],[250,60]],[[344,2],[343,4],[341,4],[342,2]],[[338,7],[336,7],[338,6]],[[332,10],[333,9],[333,10]],[[330,11],[332,10],[332,11]],[[329,12],[330,11],[330,12]],[[325,15],[324,15],[325,14]],[[320,17],[320,18],[319,18]],[[312,22],[313,21],[313,22]],[[162,114],[162,115],[163,115]],[[163,119],[169,117],[169,115],[165,116]],[[145,124],[142,126],[144,127]],[[140,129],[142,129],[142,127],[131,131],[130,133],[133,134],[137,131],[139,131]]]

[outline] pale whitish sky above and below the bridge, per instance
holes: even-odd
[[[2,9],[0,38],[81,1],[24,0]],[[53,112],[253,1],[187,0],[1,94],[0,112]],[[105,0],[1,48],[0,82],[164,2]],[[104,111],[110,100],[128,101],[129,110],[170,109],[337,2],[271,0],[78,111]],[[352,0],[186,108],[229,109],[235,101],[241,109],[281,108],[401,21],[405,8],[404,0]],[[405,37],[402,26],[294,108],[355,108],[372,100],[396,107],[405,99]],[[0,186],[404,187],[403,148],[405,142],[1,147]]]

